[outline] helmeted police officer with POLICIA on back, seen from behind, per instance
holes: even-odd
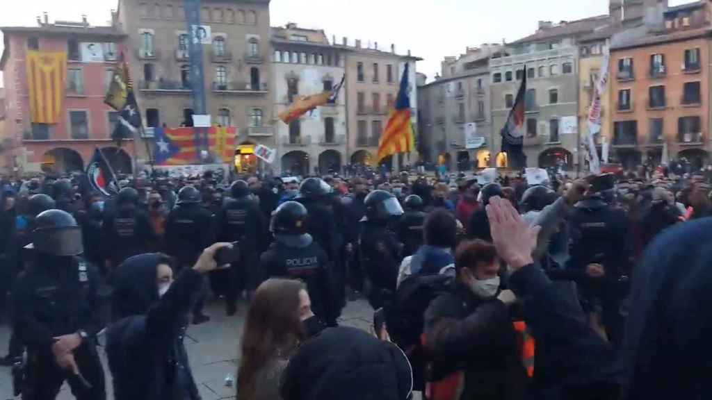
[[[335,326],[340,304],[335,297],[330,263],[325,251],[306,233],[308,211],[296,201],[279,206],[272,217],[275,242],[261,256],[266,278],[303,280],[314,315]]]

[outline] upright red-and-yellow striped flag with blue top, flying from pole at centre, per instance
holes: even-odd
[[[376,162],[397,153],[409,153],[415,148],[413,127],[410,123],[410,98],[408,97],[408,63],[403,70],[400,90],[394,110],[378,144]]]

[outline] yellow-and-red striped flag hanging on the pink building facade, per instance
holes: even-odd
[[[27,51],[25,63],[34,124],[58,122],[67,78],[67,53]]]

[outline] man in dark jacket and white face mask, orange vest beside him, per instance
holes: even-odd
[[[426,391],[451,400],[523,399],[527,376],[510,312],[516,299],[502,290],[496,249],[478,239],[461,243],[455,265],[450,292],[424,315]]]

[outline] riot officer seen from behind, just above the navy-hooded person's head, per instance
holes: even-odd
[[[116,209],[105,215],[103,248],[108,269],[126,258],[147,253],[157,241],[148,216],[139,207],[138,191],[125,187],[116,196]]]

